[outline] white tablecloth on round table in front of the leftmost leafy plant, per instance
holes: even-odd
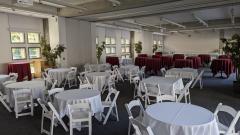
[[[49,76],[54,79],[57,80],[57,85],[59,86],[64,79],[66,79],[68,72],[70,72],[71,69],[70,68],[57,68],[57,69],[50,69],[48,71]]]

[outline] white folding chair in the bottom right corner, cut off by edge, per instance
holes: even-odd
[[[221,123],[219,121],[219,117],[218,117],[219,112],[227,113],[233,117],[233,120],[231,121],[229,127],[227,127],[226,125],[224,125],[223,123]],[[222,135],[239,135],[239,133],[236,132],[236,130],[235,130],[235,125],[239,120],[240,111],[236,111],[234,108],[232,108],[230,106],[219,103],[214,112],[214,116],[217,119],[220,134],[222,134]]]

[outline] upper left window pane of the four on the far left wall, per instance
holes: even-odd
[[[25,43],[23,32],[10,32],[10,40],[12,44]]]

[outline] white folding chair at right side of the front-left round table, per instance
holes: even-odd
[[[119,93],[120,92],[117,91],[116,89],[111,89],[105,101],[102,101],[103,109],[108,108],[107,114],[106,115],[102,114],[102,116],[104,117],[103,125],[107,123],[107,120],[110,114],[115,116],[117,118],[117,121],[119,121],[117,103],[116,103]],[[111,99],[111,95],[114,95],[113,99]],[[115,108],[115,113],[113,111],[114,108]]]

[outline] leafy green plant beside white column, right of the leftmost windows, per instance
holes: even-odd
[[[57,45],[55,48],[51,49],[50,44],[47,43],[44,37],[40,41],[42,55],[46,59],[46,64],[49,67],[56,67],[56,59],[61,58],[61,54],[66,49],[63,45]]]

